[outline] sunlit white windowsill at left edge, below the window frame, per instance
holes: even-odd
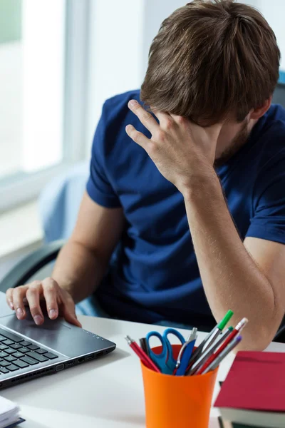
[[[35,248],[43,239],[36,201],[0,215],[0,259]]]

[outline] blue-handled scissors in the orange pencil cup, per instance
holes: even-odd
[[[147,348],[152,361],[157,365],[162,373],[173,374],[176,367],[176,360],[173,358],[172,345],[168,339],[168,335],[176,336],[182,345],[185,344],[185,338],[174,328],[167,328],[163,335],[160,335],[159,332],[155,331],[149,332],[145,339],[147,341]],[[155,352],[150,348],[150,337],[152,336],[157,337],[162,344],[162,351],[160,354],[155,354]]]

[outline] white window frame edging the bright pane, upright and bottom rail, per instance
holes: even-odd
[[[0,213],[37,198],[56,175],[86,158],[89,24],[90,0],[66,0],[63,160],[34,173],[1,178]]]

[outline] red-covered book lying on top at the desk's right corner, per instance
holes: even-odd
[[[238,352],[214,404],[224,420],[285,427],[285,353]],[[234,427],[235,428],[235,427]]]

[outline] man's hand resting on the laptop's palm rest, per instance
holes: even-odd
[[[55,320],[58,315],[62,315],[71,324],[82,327],[75,312],[73,298],[68,291],[58,286],[52,278],[43,281],[33,281],[28,285],[21,285],[16,288],[9,288],[6,291],[6,300],[11,309],[16,311],[19,320],[26,318],[25,305],[30,307],[36,325],[43,324],[43,312],[40,301],[45,300],[48,317]]]

